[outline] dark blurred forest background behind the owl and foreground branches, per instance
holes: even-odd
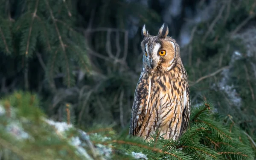
[[[141,28],[181,47],[193,107],[206,102],[256,140],[256,0],[0,0],[0,97],[38,94],[56,121],[130,123]]]

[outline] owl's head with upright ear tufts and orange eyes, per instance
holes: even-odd
[[[163,23],[156,36],[152,36],[146,30],[145,24],[142,28],[143,41],[141,48],[143,55],[143,71],[145,72],[167,72],[172,70],[177,61],[180,61],[180,47],[175,39],[167,36],[168,26]]]

